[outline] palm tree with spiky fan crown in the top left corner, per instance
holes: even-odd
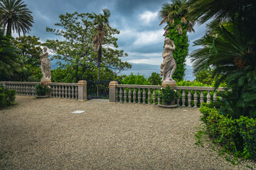
[[[7,27],[6,34],[11,35],[11,30],[16,30],[18,35],[21,31],[26,35],[33,23],[31,13],[21,0],[0,0],[0,25]]]

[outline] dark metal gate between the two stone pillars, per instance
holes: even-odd
[[[92,80],[87,81],[87,99],[109,98],[109,84],[111,80]]]

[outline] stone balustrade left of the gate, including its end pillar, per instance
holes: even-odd
[[[0,84],[6,89],[15,89],[17,95],[36,96],[35,86],[39,82],[24,81],[0,81]],[[50,86],[50,97],[78,99],[79,101],[87,100],[87,81],[81,80],[78,83],[48,83]]]

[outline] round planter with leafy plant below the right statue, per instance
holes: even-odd
[[[160,99],[162,104],[159,106],[165,108],[174,108],[178,105],[176,104],[176,98],[178,97],[177,91],[174,87],[166,86],[165,88],[161,89]]]

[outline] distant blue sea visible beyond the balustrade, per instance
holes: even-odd
[[[160,74],[160,65],[152,65],[152,64],[132,64],[132,69],[127,69],[125,71],[122,71],[121,73],[119,73],[118,75],[129,75],[131,73],[133,74],[142,74],[144,75],[146,78],[149,78],[151,76],[152,72],[156,72]],[[186,71],[185,71],[185,77],[184,79],[186,80],[190,80],[193,81],[194,79],[196,79],[195,76],[193,76],[193,67],[186,65]]]

